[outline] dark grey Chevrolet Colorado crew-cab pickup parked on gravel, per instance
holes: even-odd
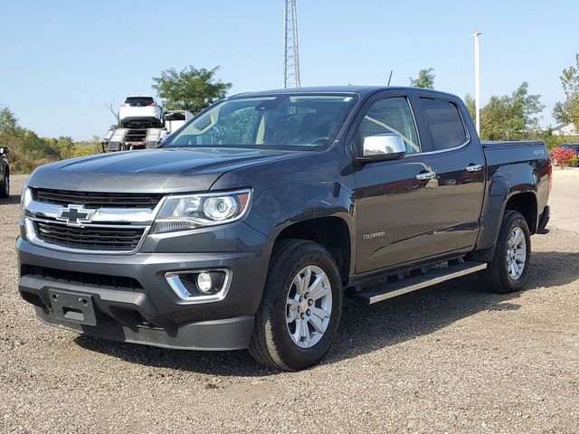
[[[156,149],[36,169],[19,291],[84,335],[298,370],[327,354],[346,295],[470,273],[522,288],[551,175],[542,142],[481,143],[447,93],[244,93]]]

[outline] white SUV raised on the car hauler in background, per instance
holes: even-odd
[[[121,127],[148,128],[161,127],[163,109],[150,96],[134,95],[123,100],[119,108]]]

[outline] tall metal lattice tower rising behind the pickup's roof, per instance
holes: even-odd
[[[296,0],[283,0],[283,87],[299,88],[298,15]]]

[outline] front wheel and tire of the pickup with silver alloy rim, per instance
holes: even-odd
[[[299,285],[307,280],[307,285]],[[314,285],[317,281],[321,286]],[[320,319],[328,311],[329,316]],[[312,241],[279,241],[255,316],[250,353],[258,362],[283,371],[314,365],[327,354],[341,311],[342,283],[327,250]]]

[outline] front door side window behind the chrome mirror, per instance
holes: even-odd
[[[365,113],[358,127],[356,139],[361,145],[365,137],[381,133],[395,133],[402,136],[406,144],[406,154],[414,154],[421,150],[413,113],[408,99],[404,97],[375,101]]]

